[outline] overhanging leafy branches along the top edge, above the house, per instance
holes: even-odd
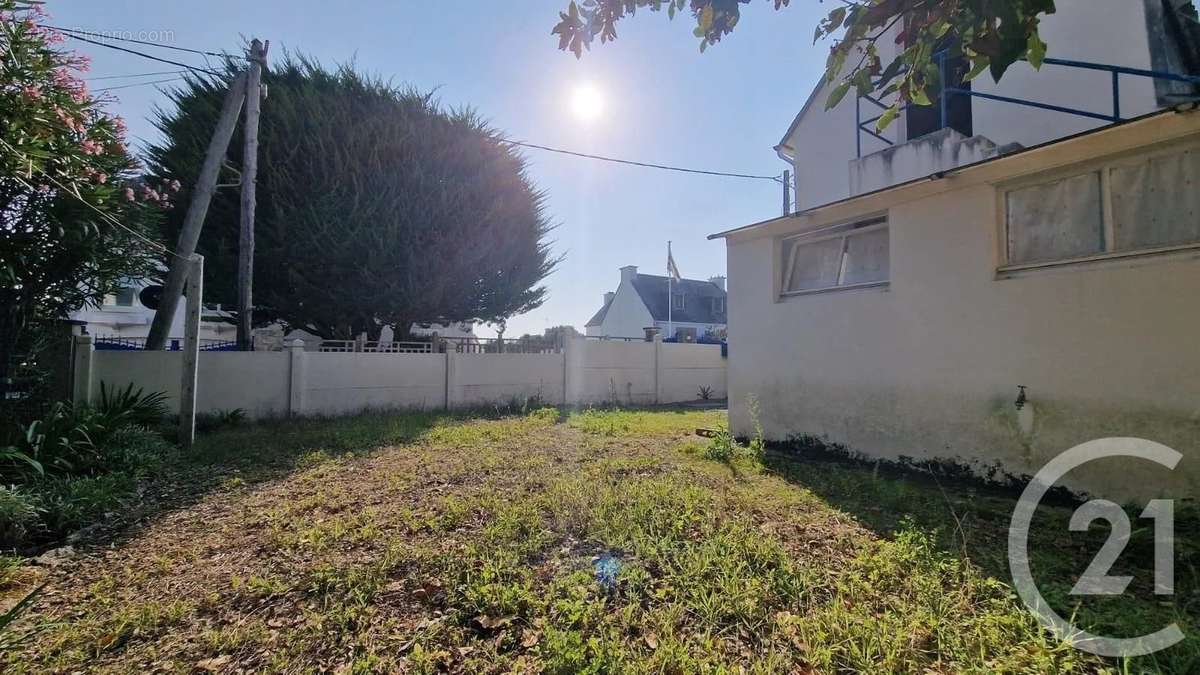
[[[791,0],[768,0],[781,10]],[[576,58],[600,42],[617,38],[617,23],[638,8],[659,12],[666,8],[674,18],[690,11],[700,38],[700,50],[716,44],[733,32],[742,18],[742,5],[750,0],[572,0],[552,34],[558,48]],[[984,71],[1000,79],[1010,65],[1028,59],[1040,67],[1046,44],[1038,32],[1043,14],[1055,12],[1055,0],[844,0],[816,26],[814,42],[832,38],[824,78],[838,83],[826,106],[832,108],[854,89],[858,95],[895,94],[895,103],[880,126],[887,126],[906,103],[930,104],[929,90],[940,83],[936,53],[947,44],[971,61],[967,79]],[[893,26],[900,26],[899,55],[883,64],[877,42]]]

